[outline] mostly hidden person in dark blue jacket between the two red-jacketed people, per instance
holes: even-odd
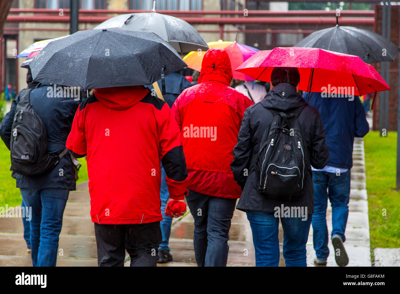
[[[158,88],[162,91],[161,80],[157,81]],[[192,86],[184,76],[178,74],[178,72],[173,72],[172,74],[168,74],[165,76],[165,92],[166,94],[162,95],[164,101],[167,102],[170,108],[172,104],[174,104],[176,98],[178,98],[179,94],[182,93],[183,90]],[[156,94],[154,91],[153,85],[145,86],[152,91],[152,93]],[[158,97],[161,98],[161,97]],[[168,186],[165,180],[166,173],[164,167],[161,165],[161,211],[165,210],[165,206],[167,204],[168,198],[170,198],[170,194],[168,193]],[[158,263],[165,263],[172,260],[172,255],[170,254],[169,248],[169,239],[171,234],[171,224],[172,218],[170,216],[165,216],[162,214],[162,221],[160,222],[161,233],[162,233],[162,243],[158,248]]]

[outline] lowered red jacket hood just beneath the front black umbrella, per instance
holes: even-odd
[[[137,104],[149,92],[143,86],[110,87],[95,89],[94,96],[108,108],[124,110]]]

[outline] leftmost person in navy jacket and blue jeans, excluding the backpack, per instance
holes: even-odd
[[[34,83],[31,84],[34,86]],[[65,88],[62,88],[65,89]],[[64,90],[39,83],[30,92],[30,104],[47,130],[48,152],[58,156],[64,149],[72,121],[79,106],[79,97],[70,97]],[[79,95],[80,96],[80,95]],[[12,122],[20,95],[11,104],[11,110],[2,120],[0,136],[10,149]],[[30,247],[33,266],[56,266],[58,237],[62,215],[69,191],[75,190],[75,170],[70,154],[64,155],[57,166],[40,176],[16,175],[16,186],[30,208]]]

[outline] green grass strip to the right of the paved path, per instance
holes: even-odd
[[[397,133],[364,138],[371,248],[400,248],[400,191],[396,191]],[[386,216],[384,216],[386,210]]]

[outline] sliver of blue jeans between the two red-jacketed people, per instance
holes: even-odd
[[[166,173],[164,168],[161,165],[161,214],[162,214],[162,221],[160,222],[161,234],[162,234],[162,243],[158,250],[164,250],[170,252],[170,248],[168,247],[170,234],[171,234],[171,224],[172,224],[172,217],[165,216],[165,206],[167,205],[167,201],[170,198],[170,194],[168,193],[168,186],[165,180]]]

